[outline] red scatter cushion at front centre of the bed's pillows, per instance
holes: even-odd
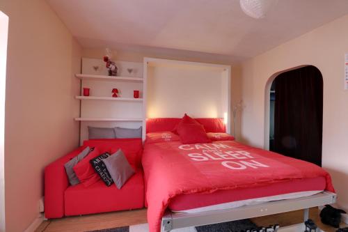
[[[207,144],[210,139],[204,130],[203,125],[182,124],[177,128],[182,144]]]

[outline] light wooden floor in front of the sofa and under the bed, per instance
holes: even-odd
[[[310,209],[310,219],[313,219],[317,226],[323,231],[334,232],[335,228],[326,226],[320,222],[317,208]],[[252,219],[258,226],[268,226],[270,224],[280,224],[280,226],[289,226],[303,222],[303,210],[285,212],[276,215],[264,217],[255,217]],[[122,212],[106,212],[97,215],[85,215],[78,217],[65,217],[62,219],[50,219],[43,222],[37,232],[79,232],[93,231],[98,229],[109,229],[120,226],[129,226],[134,224],[146,223],[146,210],[132,210]],[[342,224],[341,227],[347,225]]]

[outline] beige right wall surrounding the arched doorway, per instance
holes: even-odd
[[[324,79],[323,167],[332,177],[338,204],[348,209],[348,91],[343,90],[348,52],[348,15],[242,64],[242,139],[264,146],[265,86],[274,73],[315,65]],[[268,118],[267,118],[268,120]]]

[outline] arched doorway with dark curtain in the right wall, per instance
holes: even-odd
[[[322,165],[322,73],[313,65],[282,72],[269,91],[269,150]]]

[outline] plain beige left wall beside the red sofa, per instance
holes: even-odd
[[[9,17],[6,80],[6,231],[38,217],[44,167],[78,146],[79,44],[44,0],[1,1]]]

